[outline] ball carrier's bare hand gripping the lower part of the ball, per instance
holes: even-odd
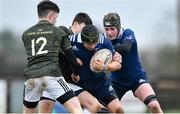
[[[103,66],[104,66],[104,63],[103,61],[100,61],[100,60],[93,60],[93,68],[94,69],[97,69],[98,71],[103,71]]]

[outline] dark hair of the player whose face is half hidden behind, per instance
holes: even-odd
[[[73,19],[72,25],[74,22],[78,22],[79,24],[84,23],[85,25],[92,25],[93,24],[90,16],[84,12],[80,12],[80,13],[76,14],[74,19]]]

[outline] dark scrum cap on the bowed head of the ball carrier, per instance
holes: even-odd
[[[94,25],[86,25],[81,32],[81,39],[84,43],[96,43],[99,39],[99,31]]]

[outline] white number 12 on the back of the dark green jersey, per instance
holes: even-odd
[[[38,52],[36,53],[34,47],[35,47],[35,44],[39,44],[40,41],[42,41],[43,43],[42,43],[42,45],[40,46]],[[46,40],[46,38],[44,38],[44,37],[39,37],[36,41],[35,41],[35,39],[32,39],[32,40],[31,40],[32,56],[48,53],[48,50],[43,50],[43,49],[44,49],[44,46],[46,45],[46,43],[47,43],[47,40]]]

